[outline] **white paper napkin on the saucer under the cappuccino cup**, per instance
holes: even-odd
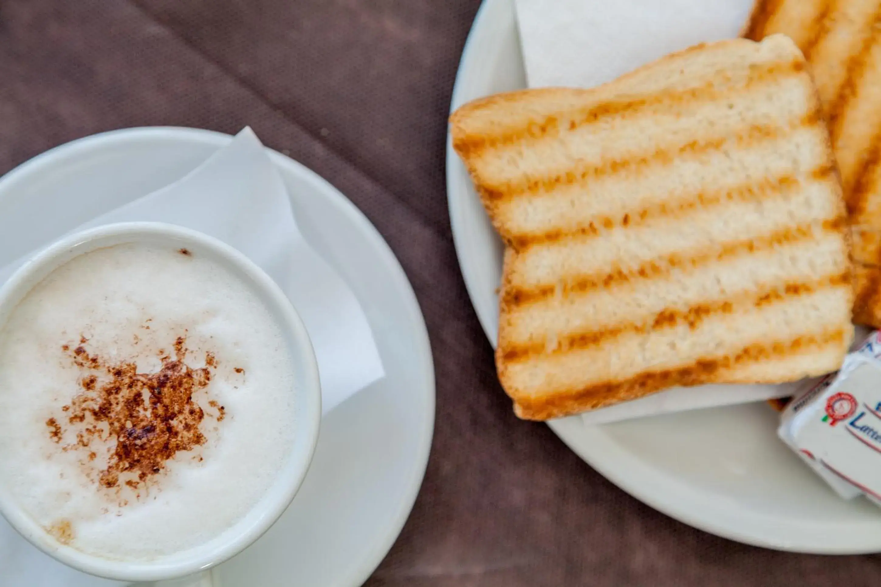
[[[315,348],[324,414],[383,377],[379,351],[358,299],[303,239],[278,170],[250,128],[181,180],[71,227],[70,232],[136,220],[180,224],[219,238],[278,283],[300,313]],[[33,253],[12,260],[0,250],[0,266],[5,265],[0,283]],[[0,517],[0,587],[106,584],[120,583],[56,562]]]

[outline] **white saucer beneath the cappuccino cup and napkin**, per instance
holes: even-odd
[[[230,138],[134,128],[50,150],[0,180],[0,247],[10,257],[26,253],[179,179]],[[401,531],[425,473],[434,423],[431,349],[410,282],[373,225],[314,172],[270,156],[305,237],[359,298],[387,375],[322,419],[300,493],[263,538],[215,570],[217,583],[359,585]],[[0,526],[10,531],[2,519]]]

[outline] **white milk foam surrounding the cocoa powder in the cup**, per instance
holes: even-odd
[[[192,396],[205,442],[137,488],[102,488],[107,451],[77,446],[62,411],[84,376],[63,345],[83,337],[88,353],[155,373],[178,336],[192,369],[205,367],[207,353],[216,361]],[[88,554],[150,560],[196,547],[248,513],[284,465],[292,385],[290,351],[269,310],[216,261],[140,244],[80,255],[31,290],[0,330],[0,483],[38,524]],[[51,417],[65,430],[61,442]]]

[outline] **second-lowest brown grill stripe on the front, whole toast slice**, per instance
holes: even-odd
[[[526,361],[538,355],[559,355],[571,350],[585,349],[602,344],[620,334],[648,334],[661,328],[687,326],[694,330],[700,327],[705,319],[716,314],[733,314],[749,311],[751,308],[777,303],[787,303],[788,298],[815,293],[819,290],[837,287],[849,287],[851,275],[845,271],[836,275],[827,275],[820,279],[787,282],[770,285],[765,288],[742,291],[736,296],[726,299],[707,301],[692,305],[687,309],[665,308],[642,322],[627,322],[601,330],[587,330],[565,334],[554,341],[549,348],[547,340],[531,341],[522,344],[510,344],[499,349],[500,355],[508,363]]]

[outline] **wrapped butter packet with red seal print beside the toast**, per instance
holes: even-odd
[[[807,385],[781,414],[777,434],[845,499],[881,505],[881,336]]]

